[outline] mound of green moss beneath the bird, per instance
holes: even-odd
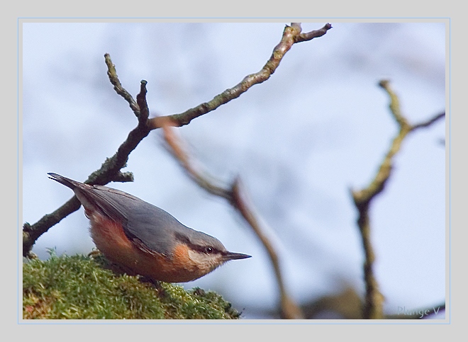
[[[89,256],[23,263],[24,319],[238,319],[216,292],[115,275]]]

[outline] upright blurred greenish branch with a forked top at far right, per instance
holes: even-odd
[[[374,250],[370,241],[370,224],[369,224],[369,206],[371,201],[376,195],[384,190],[386,181],[388,181],[391,175],[392,169],[392,158],[399,152],[401,142],[408,135],[409,132],[413,132],[421,127],[428,127],[434,122],[437,122],[440,118],[445,116],[445,113],[435,115],[434,118],[426,122],[421,122],[417,125],[410,125],[408,120],[403,117],[400,110],[399,98],[396,93],[392,91],[389,85],[389,81],[383,80],[379,82],[379,86],[385,89],[390,97],[390,110],[396,122],[399,124],[399,132],[394,138],[389,152],[387,152],[382,161],[379,171],[372,182],[362,190],[352,190],[352,198],[355,202],[359,217],[357,224],[360,227],[362,245],[364,247],[365,261],[364,261],[364,281],[366,283],[366,297],[363,307],[364,319],[382,319],[384,314],[382,312],[384,296],[379,292],[379,286],[377,280],[374,277],[374,271],[372,269],[374,263]]]

